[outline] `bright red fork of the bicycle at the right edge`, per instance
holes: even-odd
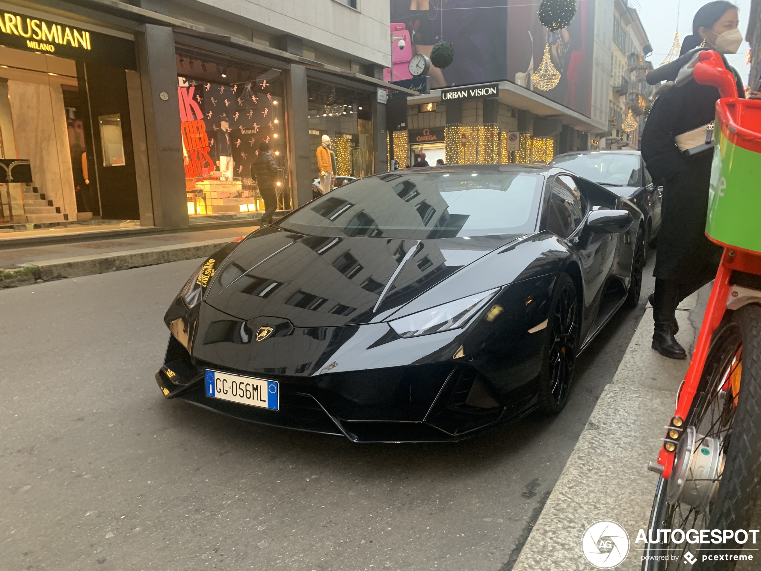
[[[705,359],[708,357],[708,349],[711,347],[713,334],[718,329],[721,319],[727,311],[732,289],[730,285],[732,272],[738,271],[761,276],[761,256],[757,252],[741,250],[726,244],[721,245],[724,246],[724,254],[721,256],[721,263],[718,266],[711,296],[708,298],[708,306],[705,308],[705,317],[703,317],[698,340],[695,344],[693,358],[689,362],[687,374],[677,394],[677,411],[673,414],[669,426],[667,426],[664,444],[661,446],[661,452],[658,454],[658,464],[663,467],[663,471],[657,466],[654,467],[654,471],[661,472],[661,477],[664,477],[664,479],[668,479],[671,476],[673,456],[686,429],[686,419],[700,384],[703,366],[705,365]],[[653,467],[652,464],[651,467]]]

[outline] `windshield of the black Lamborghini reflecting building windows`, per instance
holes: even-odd
[[[338,187],[278,225],[301,234],[418,240],[525,234],[536,226],[543,180],[510,172],[397,171]]]

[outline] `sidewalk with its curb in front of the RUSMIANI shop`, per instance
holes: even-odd
[[[256,226],[135,235],[0,250],[0,289],[209,256]]]

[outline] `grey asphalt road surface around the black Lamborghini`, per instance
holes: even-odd
[[[164,400],[161,316],[197,265],[0,291],[3,571],[507,571],[653,283],[578,359],[560,416],[355,445]]]

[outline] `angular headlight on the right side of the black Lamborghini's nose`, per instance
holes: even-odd
[[[498,291],[499,288],[495,288],[489,289],[488,292],[468,295],[437,305],[435,308],[400,317],[389,321],[388,324],[400,337],[417,337],[465,327],[470,318],[489,303]]]

